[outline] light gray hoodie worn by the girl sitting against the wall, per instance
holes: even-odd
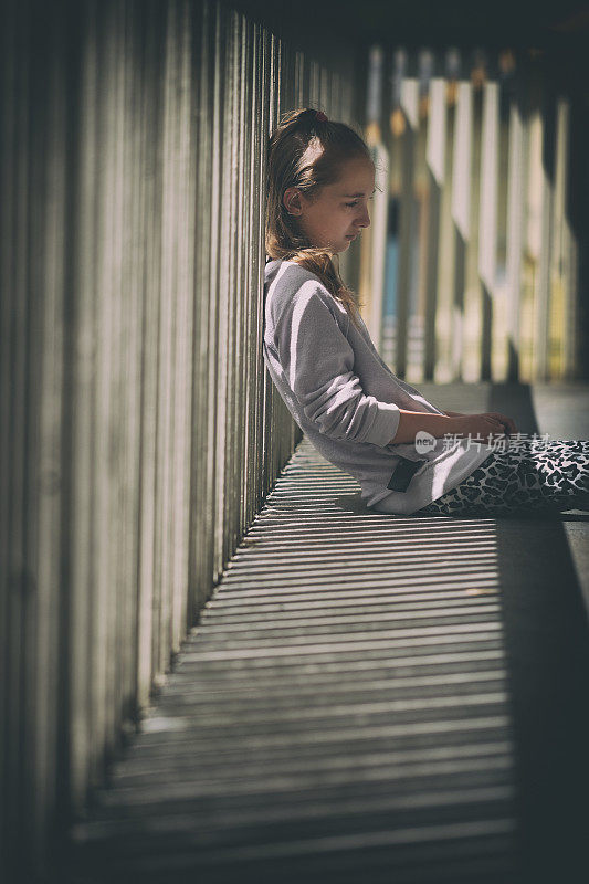
[[[399,409],[443,412],[392,373],[359,324],[316,274],[292,261],[266,264],[263,356],[282,399],[314,448],[358,481],[367,506],[409,515],[459,485],[493,448],[429,434],[419,449],[392,444]],[[419,462],[412,477],[407,461]]]

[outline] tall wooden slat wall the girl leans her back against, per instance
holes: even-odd
[[[266,140],[362,86],[218,0],[1,23],[0,831],[29,881],[299,439],[261,351]]]

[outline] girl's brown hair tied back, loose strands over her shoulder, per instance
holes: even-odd
[[[332,261],[333,250],[312,246],[296,218],[288,214],[282,201],[284,191],[290,187],[298,188],[307,199],[313,200],[319,196],[323,187],[339,179],[344,162],[357,157],[372,159],[366,143],[354,129],[345,123],[317,119],[316,113],[311,107],[290,110],[270,138],[266,254],[273,259],[294,261],[315,273],[357,326],[356,314],[362,305],[356,302],[355,293],[344,284]],[[311,162],[307,161],[309,155],[314,157]]]

